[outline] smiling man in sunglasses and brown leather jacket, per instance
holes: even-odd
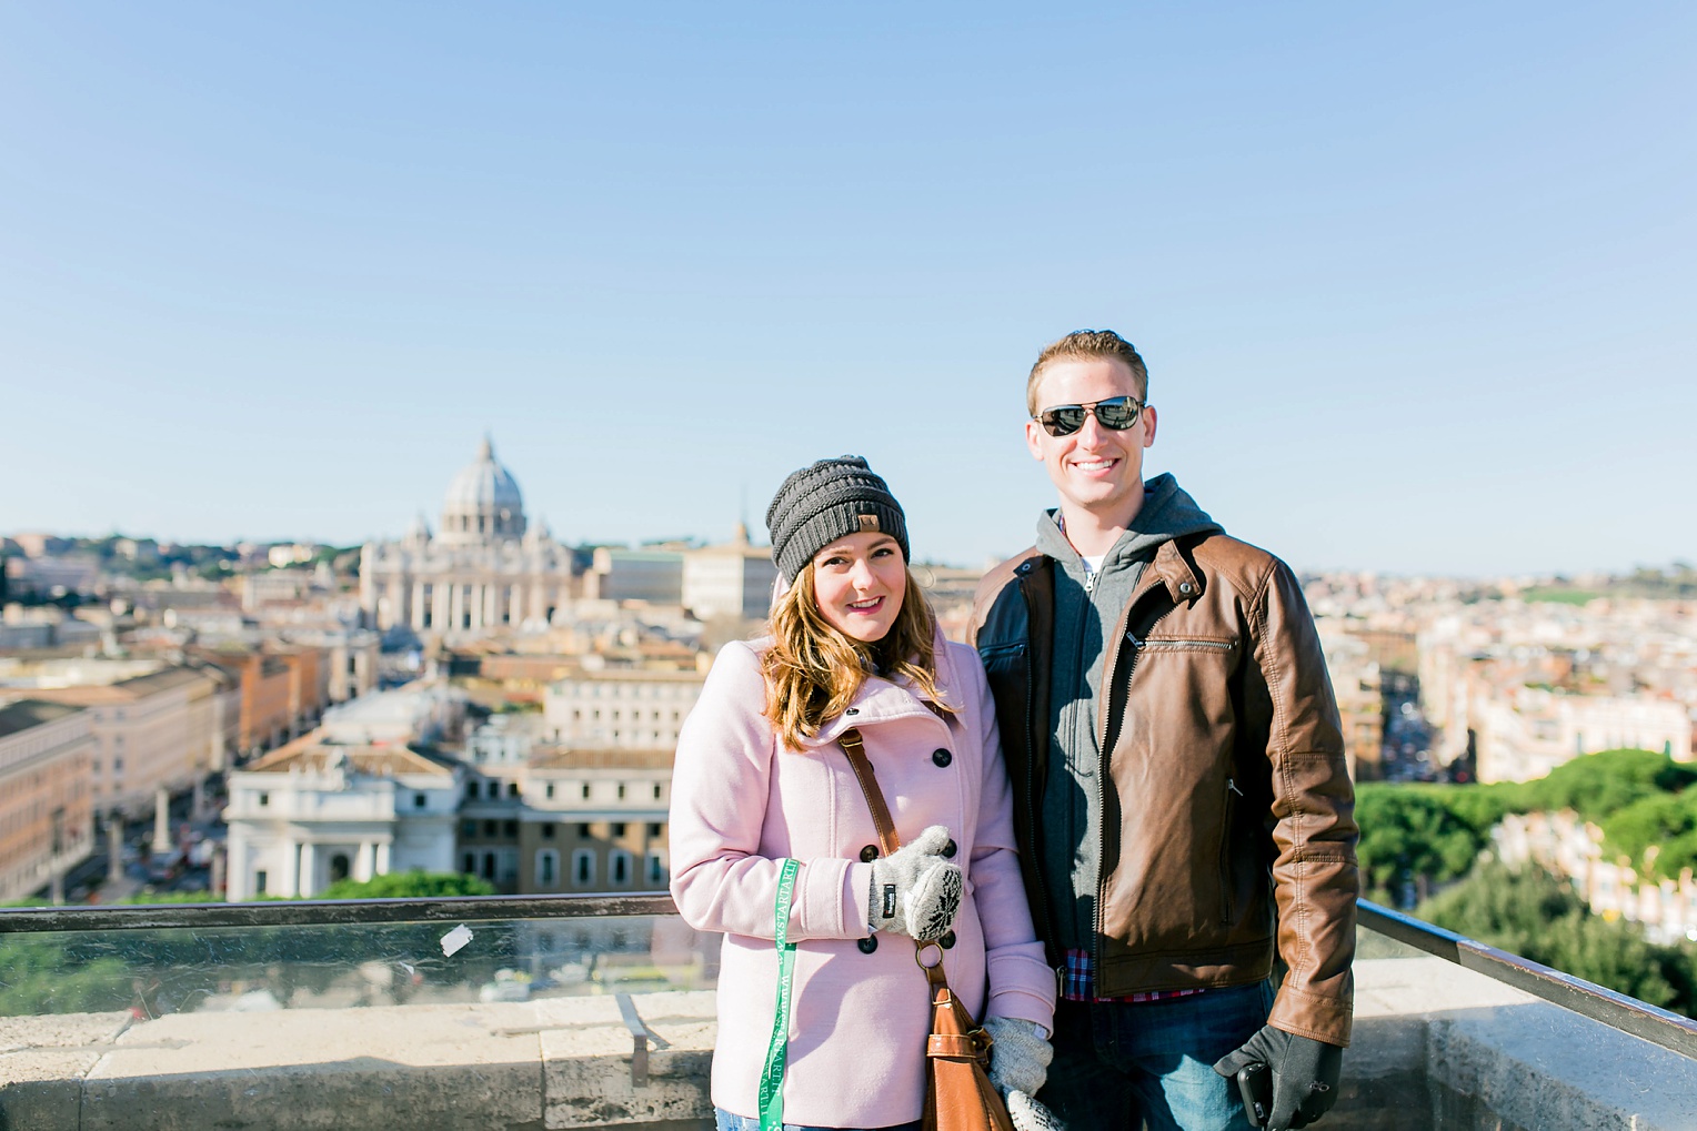
[[[1112,331],[1042,351],[1025,439],[1061,505],[972,610],[1061,978],[1039,1099],[1074,1131],[1247,1128],[1235,1077],[1266,1065],[1266,1126],[1302,1128],[1353,1016],[1337,704],[1290,568],[1144,482],[1147,390]]]

